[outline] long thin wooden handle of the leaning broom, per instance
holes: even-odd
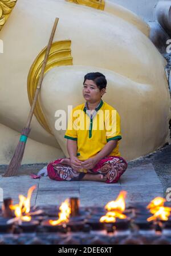
[[[36,92],[35,92],[35,95],[34,95],[34,99],[33,99],[33,101],[32,101],[30,113],[29,113],[28,119],[27,119],[26,128],[29,128],[29,127],[30,127],[32,115],[33,115],[33,113],[34,113],[34,108],[35,108],[35,105],[36,105],[36,101],[37,101],[37,99],[38,99],[39,91],[40,91],[40,88],[41,88],[41,86],[42,86],[44,70],[45,70],[45,67],[46,67],[46,63],[47,63],[47,59],[48,59],[49,52],[50,52],[50,50],[51,50],[51,45],[52,45],[52,41],[53,41],[53,39],[54,39],[54,35],[55,35],[56,27],[57,27],[57,25],[58,25],[58,21],[59,21],[59,18],[56,18],[56,19],[55,19],[55,22],[54,22],[54,27],[53,27],[53,29],[52,29],[51,36],[50,36],[50,39],[49,39],[49,42],[48,42],[48,46],[47,46],[47,49],[46,49],[46,54],[45,54],[45,57],[44,57],[44,60],[43,60],[43,64],[42,64],[42,70],[41,70],[41,73],[40,73],[40,76],[39,76],[38,86],[37,86],[37,88],[36,88]]]

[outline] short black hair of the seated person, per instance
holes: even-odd
[[[107,86],[107,80],[105,79],[105,76],[99,72],[91,72],[86,74],[84,76],[83,84],[86,82],[86,80],[92,80],[95,82],[96,86],[99,87],[100,90],[106,88]]]

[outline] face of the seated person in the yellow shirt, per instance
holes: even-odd
[[[83,86],[83,97],[90,103],[100,101],[101,96],[104,94],[105,89],[101,91],[92,80],[86,80]]]

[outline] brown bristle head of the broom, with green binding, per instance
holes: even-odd
[[[28,134],[30,133],[30,130],[31,130],[30,128],[24,128],[22,131],[22,135],[27,137]],[[15,176],[17,174],[17,170],[19,169],[19,166],[21,166],[21,162],[25,152],[25,147],[26,147],[26,141],[23,142],[20,140],[17,145],[17,148],[15,149],[14,156],[11,159],[5,174],[3,174],[3,177]]]

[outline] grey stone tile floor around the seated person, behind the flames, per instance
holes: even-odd
[[[103,206],[115,200],[121,190],[126,190],[127,202],[150,201],[156,196],[164,196],[166,188],[171,188],[171,145],[140,159],[130,161],[127,171],[117,184],[95,181],[53,181],[48,177],[32,180],[30,173],[37,173],[46,164],[22,165],[18,176],[0,176],[3,197],[12,197],[18,202],[18,194],[26,196],[28,188],[36,185],[32,194],[32,205],[59,205],[68,197],[79,197],[81,206]],[[0,166],[0,175],[6,166]],[[0,195],[0,206],[2,198]]]

